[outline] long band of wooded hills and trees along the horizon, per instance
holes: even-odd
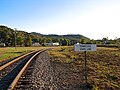
[[[77,38],[76,38],[77,37]],[[39,43],[44,46],[45,43],[58,42],[61,46],[74,45],[76,43],[92,43],[92,44],[104,44],[104,41],[108,39],[103,38],[102,40],[90,40],[82,35],[42,35],[39,33],[28,33],[16,29],[11,29],[7,26],[0,26],[0,43],[5,43],[5,46],[32,46],[34,43]],[[115,44],[115,40],[109,40],[111,44]]]

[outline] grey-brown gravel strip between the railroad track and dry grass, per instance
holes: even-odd
[[[78,74],[69,72],[66,65],[51,62],[47,52],[41,53],[31,65],[27,90],[80,90]],[[29,70],[29,69],[28,69]],[[25,89],[25,88],[24,88]]]

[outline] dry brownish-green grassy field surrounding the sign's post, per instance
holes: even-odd
[[[84,53],[74,52],[73,47],[59,47],[49,51],[51,62],[66,65],[70,75],[65,83],[84,85]],[[93,90],[120,89],[120,51],[117,48],[97,48],[95,52],[87,52],[88,85]],[[67,80],[72,75],[74,78]],[[77,79],[76,79],[77,78]]]

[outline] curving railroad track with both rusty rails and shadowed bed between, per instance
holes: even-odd
[[[13,90],[32,60],[45,50],[30,52],[0,66],[0,90]]]

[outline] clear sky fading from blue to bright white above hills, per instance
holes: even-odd
[[[120,37],[120,0],[0,0],[0,25],[114,39]]]

